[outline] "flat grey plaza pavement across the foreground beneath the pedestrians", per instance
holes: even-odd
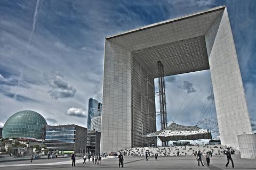
[[[238,155],[233,155],[235,169],[256,169],[255,159],[241,159]],[[172,157],[158,157],[155,161],[154,157],[149,157],[146,161],[145,157],[124,157],[124,169],[211,169],[219,170],[226,169],[225,164],[227,158],[225,155],[214,155],[211,158],[210,167],[206,166],[206,161],[203,159],[205,166],[198,167],[195,156],[172,156]],[[58,159],[38,159],[30,163],[29,160],[19,162],[0,163],[0,170],[2,169],[117,169],[118,158],[109,157],[101,160],[101,165],[92,165],[91,162],[86,162],[83,165],[82,157],[76,159],[76,167],[71,166],[70,158]],[[231,167],[231,162],[228,168]]]

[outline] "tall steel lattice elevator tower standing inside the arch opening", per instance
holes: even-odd
[[[161,115],[161,130],[167,127],[167,112],[166,112],[166,97],[165,97],[165,82],[164,82],[164,66],[161,61],[157,61],[158,65],[158,88],[159,102]],[[167,146],[168,141],[162,142],[162,146]]]

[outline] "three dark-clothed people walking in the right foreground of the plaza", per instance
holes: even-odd
[[[231,163],[232,163],[232,167],[234,168],[234,162],[233,162],[233,159],[231,158],[230,148],[227,149],[227,151],[225,152],[225,155],[227,156],[227,161],[228,161],[227,164],[226,164],[226,167],[228,168],[228,164],[229,164],[229,160],[230,160]],[[205,154],[205,159],[206,159],[207,166],[210,166],[210,157],[211,156],[212,156],[212,152],[207,151],[206,154]],[[204,164],[202,162],[202,153],[201,153],[200,150],[198,150],[198,152],[197,152],[196,160],[198,161],[198,166],[200,166],[200,162],[201,162],[202,166],[204,166]]]

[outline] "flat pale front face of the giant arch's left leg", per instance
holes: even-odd
[[[131,53],[105,41],[101,152],[131,147]]]

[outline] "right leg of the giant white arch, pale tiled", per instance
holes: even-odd
[[[239,150],[237,135],[250,134],[252,129],[227,8],[205,40],[221,144]]]

